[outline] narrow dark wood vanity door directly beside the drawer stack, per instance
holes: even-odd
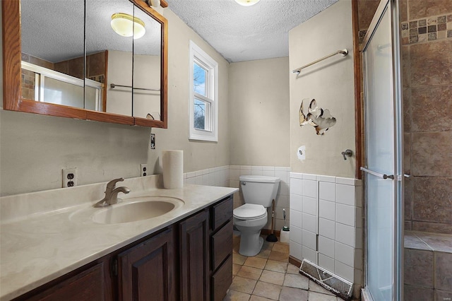
[[[179,223],[181,300],[209,300],[208,211]]]

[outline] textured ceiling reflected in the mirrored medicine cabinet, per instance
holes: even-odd
[[[84,0],[22,0],[22,52],[53,63],[83,56]],[[121,37],[110,26],[113,13],[129,13],[145,22],[141,39]],[[56,17],[57,16],[57,17]],[[160,54],[160,23],[127,0],[86,0],[86,51],[105,49]]]

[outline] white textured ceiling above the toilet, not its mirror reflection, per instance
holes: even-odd
[[[167,0],[169,8],[227,61],[289,55],[289,30],[338,0]]]

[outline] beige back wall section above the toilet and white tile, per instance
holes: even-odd
[[[230,64],[230,164],[290,166],[289,58]]]

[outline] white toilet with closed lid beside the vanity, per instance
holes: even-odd
[[[261,252],[261,229],[267,224],[267,208],[276,199],[280,179],[258,175],[240,176],[244,205],[234,209],[234,225],[240,231],[239,254],[254,256]]]

